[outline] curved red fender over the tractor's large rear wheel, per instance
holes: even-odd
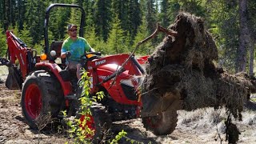
[[[66,96],[67,94],[71,93],[72,86],[70,82],[65,82],[59,72],[62,70],[56,63],[50,63],[50,62],[38,62],[35,64],[36,69],[39,67],[45,67],[49,69],[55,76],[58,78],[58,82],[62,86],[63,94]],[[41,68],[42,69],[42,68]]]

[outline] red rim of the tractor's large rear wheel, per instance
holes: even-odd
[[[38,117],[42,109],[42,95],[38,85],[31,84],[26,89],[25,106],[30,118],[35,119]]]

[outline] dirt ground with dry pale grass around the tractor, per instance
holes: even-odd
[[[2,70],[3,66],[0,66]],[[22,116],[20,90],[8,90],[6,74],[0,73],[0,143],[65,143],[70,142],[58,131],[31,130]],[[256,142],[256,103],[250,102],[242,113],[243,121],[237,124],[241,134],[238,143]],[[125,130],[126,137],[140,143],[227,143],[224,126],[225,110],[206,108],[188,112],[178,111],[178,126],[172,134],[155,136],[142,126],[141,119],[114,122],[111,132]],[[127,143],[122,139],[120,143]]]

